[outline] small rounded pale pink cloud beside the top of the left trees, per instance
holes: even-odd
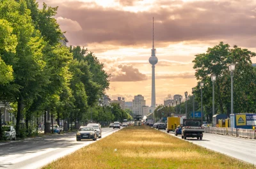
[[[70,18],[63,17],[58,17],[56,20],[58,24],[60,24],[60,28],[62,31],[76,32],[82,30],[82,27],[76,20],[71,20]]]

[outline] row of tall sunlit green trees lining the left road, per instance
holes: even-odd
[[[45,3],[39,9],[36,0],[0,1],[0,101],[12,108],[20,137],[23,122],[28,130],[29,121],[36,118],[38,123],[42,114],[47,119],[45,133],[50,132],[53,117],[59,125],[60,119],[86,122],[90,110],[95,121],[128,117],[117,105],[113,114],[99,107],[99,98],[109,88],[109,74],[93,52],[61,45],[57,10]]]

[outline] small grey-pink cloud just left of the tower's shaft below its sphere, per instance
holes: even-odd
[[[111,75],[111,82],[138,82],[147,80],[147,75],[140,73],[138,69],[132,66],[123,64],[119,64],[118,70]]]

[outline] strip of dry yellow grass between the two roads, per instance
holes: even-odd
[[[247,169],[255,166],[147,126],[132,126],[83,147],[44,168]]]

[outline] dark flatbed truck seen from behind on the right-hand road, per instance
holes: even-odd
[[[183,127],[181,138],[186,140],[188,137],[196,137],[202,140],[204,128],[202,128],[202,121],[200,119],[183,119]]]

